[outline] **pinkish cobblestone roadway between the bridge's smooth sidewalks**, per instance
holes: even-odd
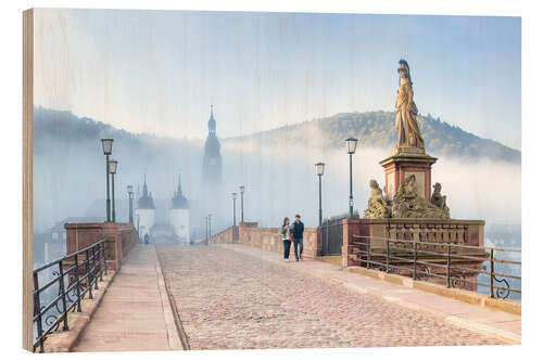
[[[191,349],[503,344],[247,254],[157,250]]]

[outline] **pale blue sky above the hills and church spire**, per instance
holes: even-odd
[[[35,104],[115,127],[204,138],[415,102],[520,147],[520,18],[38,10]]]

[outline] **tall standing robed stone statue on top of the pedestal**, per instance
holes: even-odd
[[[413,101],[413,82],[411,80],[409,65],[405,60],[400,61],[397,68],[400,87],[396,98],[396,130],[397,151],[424,153],[425,142],[417,124],[417,105]],[[418,152],[417,152],[418,150]]]

